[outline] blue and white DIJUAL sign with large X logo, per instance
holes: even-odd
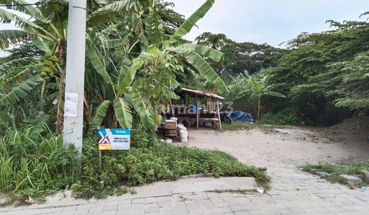
[[[122,128],[97,130],[99,150],[125,150],[130,148],[131,131]]]

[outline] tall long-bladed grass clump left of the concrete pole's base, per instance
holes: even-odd
[[[61,137],[47,121],[47,116],[35,118],[22,130],[9,128],[0,139],[0,192],[42,200],[75,182],[74,149],[63,150]]]

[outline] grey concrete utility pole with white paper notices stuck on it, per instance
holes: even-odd
[[[63,145],[82,152],[86,0],[69,0]]]

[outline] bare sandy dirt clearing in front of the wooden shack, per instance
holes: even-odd
[[[344,139],[326,128],[285,127],[217,132],[211,128],[189,131],[190,146],[218,149],[242,162],[267,166],[270,171],[296,169],[297,165],[317,162],[356,162],[369,158],[369,143]]]

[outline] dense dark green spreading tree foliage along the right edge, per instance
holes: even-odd
[[[288,42],[290,50],[276,61],[277,67],[262,74],[286,83],[281,90],[298,115],[333,124],[367,114],[369,24],[328,23],[336,30],[300,34]]]

